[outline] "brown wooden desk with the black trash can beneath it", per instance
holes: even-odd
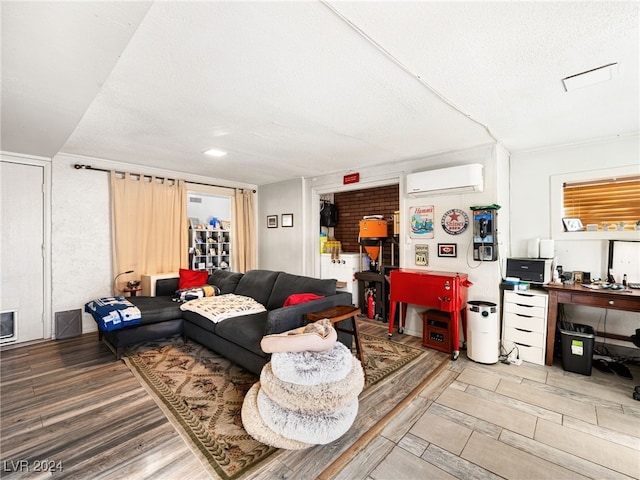
[[[548,284],[549,315],[547,319],[547,355],[545,363],[553,365],[553,347],[558,321],[558,304],[584,305],[627,312],[640,312],[640,290],[592,290],[582,285]]]

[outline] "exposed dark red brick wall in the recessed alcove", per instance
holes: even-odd
[[[334,228],[336,240],[342,242],[342,251],[358,253],[358,233],[360,220],[365,215],[383,215],[388,224],[388,235],[393,235],[393,212],[400,207],[400,187],[387,185],[352,192],[334,194],[334,203],[338,207],[338,226]],[[391,263],[390,243],[385,242],[383,263]],[[395,262],[398,264],[396,251]]]

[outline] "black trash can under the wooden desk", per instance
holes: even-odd
[[[562,322],[559,327],[562,368],[567,372],[591,375],[596,332],[589,325],[579,323]]]

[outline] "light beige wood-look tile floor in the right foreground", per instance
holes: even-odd
[[[463,353],[337,478],[640,478],[630,370],[585,376]]]

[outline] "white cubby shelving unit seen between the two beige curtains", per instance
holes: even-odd
[[[231,269],[231,231],[190,229],[189,263],[193,270]]]

